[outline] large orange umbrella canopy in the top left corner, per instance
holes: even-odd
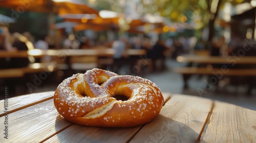
[[[91,13],[98,11],[84,5],[79,0],[1,0],[0,7],[10,8],[13,12],[22,14],[24,11],[65,13]]]

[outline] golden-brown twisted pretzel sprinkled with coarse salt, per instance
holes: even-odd
[[[127,100],[118,100],[118,96]],[[98,68],[65,79],[53,100],[68,121],[96,127],[142,125],[153,120],[163,106],[162,93],[150,80]]]

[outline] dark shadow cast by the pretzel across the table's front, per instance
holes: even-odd
[[[58,123],[62,122],[62,123]],[[56,118],[55,130],[68,122]],[[59,142],[197,142],[199,134],[189,126],[163,115],[146,125],[129,128],[100,128],[72,125],[55,136]],[[132,138],[132,139],[131,139]]]

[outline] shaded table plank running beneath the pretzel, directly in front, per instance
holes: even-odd
[[[164,101],[170,94],[163,93]],[[127,142],[142,128],[99,128],[72,125],[68,129],[54,135],[45,142]]]

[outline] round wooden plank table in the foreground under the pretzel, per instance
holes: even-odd
[[[0,142],[256,142],[256,111],[228,103],[164,93],[165,104],[153,121],[99,128],[66,121],[53,105],[53,94],[8,99],[7,115],[1,101]]]

